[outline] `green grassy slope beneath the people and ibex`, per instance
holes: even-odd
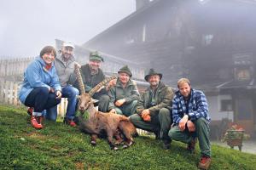
[[[0,105],[0,169],[197,169],[200,159],[190,155],[186,144],[161,142],[147,136],[136,138],[126,150],[110,150],[105,139],[96,147],[90,136],[61,122],[44,121],[44,129],[32,128],[24,107]],[[210,169],[255,169],[256,156],[212,145]]]

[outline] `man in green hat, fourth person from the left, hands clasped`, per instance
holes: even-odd
[[[139,93],[135,82],[131,81],[131,71],[127,65],[120,68],[116,85],[110,88],[108,110],[120,115],[131,116],[135,112]]]

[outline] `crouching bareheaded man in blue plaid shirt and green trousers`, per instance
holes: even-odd
[[[203,92],[192,89],[189,79],[177,81],[178,91],[172,99],[172,118],[174,127],[168,135],[171,139],[188,144],[187,150],[195,150],[196,138],[199,140],[201,161],[199,168],[207,169],[211,163],[211,144],[207,98]]]

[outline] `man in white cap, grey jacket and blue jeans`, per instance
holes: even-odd
[[[64,42],[61,48],[61,54],[57,55],[55,59],[55,69],[61,82],[62,98],[67,98],[67,114],[64,122],[68,125],[75,127],[76,123],[73,121],[77,105],[77,95],[79,90],[73,88],[71,84],[71,77],[74,72],[75,59],[73,57],[74,45],[71,42]],[[51,120],[56,120],[57,107],[47,113],[47,117]]]

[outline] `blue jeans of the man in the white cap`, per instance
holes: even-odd
[[[68,119],[73,119],[77,108],[77,95],[79,95],[79,90],[77,88],[73,88],[73,86],[67,85],[66,87],[62,88],[61,93],[62,98],[67,98],[68,101],[66,117]],[[48,109],[45,117],[49,120],[56,121],[57,106]]]

